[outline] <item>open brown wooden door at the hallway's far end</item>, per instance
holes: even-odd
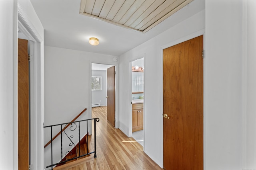
[[[115,127],[115,66],[107,69],[107,121]]]

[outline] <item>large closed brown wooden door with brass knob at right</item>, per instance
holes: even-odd
[[[203,170],[203,36],[163,52],[164,168]]]

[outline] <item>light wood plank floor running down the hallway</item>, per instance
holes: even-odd
[[[162,170],[138,142],[106,121],[106,106],[93,107],[92,117],[100,119],[96,122],[97,158],[90,156],[86,163],[78,160],[74,166],[62,170]],[[94,145],[93,137],[91,142]]]

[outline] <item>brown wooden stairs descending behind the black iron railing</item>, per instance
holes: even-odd
[[[93,151],[93,147],[92,147],[92,144],[90,142],[91,137],[92,137],[92,135],[87,134],[80,141],[80,155],[84,155],[84,154],[87,154],[87,153],[90,153],[90,152]],[[72,153],[76,152],[76,148],[79,148],[79,143],[76,145],[76,147],[74,147],[71,150]],[[78,157],[80,155],[79,155],[79,152],[77,154],[70,154],[70,155],[65,156],[65,158],[62,159],[62,161],[69,160],[69,159]],[[72,160],[70,160],[68,162],[64,162],[62,164],[58,164],[53,169],[54,170],[66,170],[67,168],[72,168],[72,167],[77,166],[79,164],[82,164],[82,163],[85,163],[85,162],[90,162],[92,160],[94,160],[94,154],[89,154],[89,155],[86,155],[86,156],[82,156],[80,158],[72,159]]]

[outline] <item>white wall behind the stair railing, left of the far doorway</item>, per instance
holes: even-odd
[[[45,46],[45,125],[70,122],[84,108],[87,111],[77,120],[91,118],[91,63],[117,65],[113,57]],[[53,136],[58,131],[53,131]],[[49,140],[50,129],[45,129],[45,143]],[[45,150],[45,166],[50,161],[48,153]]]

